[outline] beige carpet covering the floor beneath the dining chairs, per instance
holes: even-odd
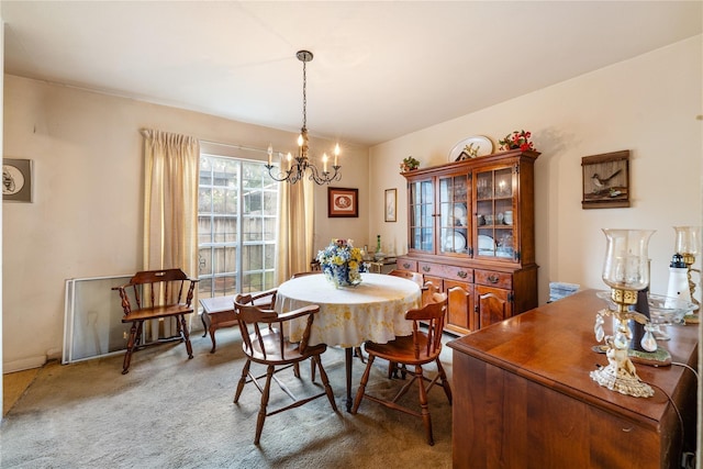
[[[365,400],[345,411],[344,350],[328,348],[323,364],[338,413],[317,399],[266,420],[253,444],[260,394],[253,384],[239,404],[234,390],[244,362],[235,328],[193,337],[194,358],[182,344],[140,350],[130,373],[122,356],[62,366],[51,364],[5,415],[0,427],[1,468],[395,468],[451,466],[451,407],[442,388],[429,392],[435,445],[425,443],[420,418]],[[443,349],[449,377],[451,350]],[[355,359],[354,389],[364,365]],[[392,393],[401,380],[386,378],[377,360],[369,390]],[[317,392],[309,366],[302,380],[281,375],[291,390]],[[416,391],[403,398],[415,403]],[[289,402],[272,387],[269,409]]]

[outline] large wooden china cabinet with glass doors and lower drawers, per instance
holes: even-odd
[[[514,149],[403,172],[408,254],[398,268],[448,293],[447,331],[466,334],[537,305],[538,156]]]

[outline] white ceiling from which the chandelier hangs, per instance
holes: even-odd
[[[702,32],[701,1],[1,1],[5,72],[376,144]]]

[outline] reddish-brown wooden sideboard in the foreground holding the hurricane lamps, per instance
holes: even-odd
[[[455,468],[678,468],[682,451],[695,450],[691,370],[636,365],[655,389],[647,399],[591,380],[607,365],[592,351],[604,306],[587,290],[448,344]],[[698,370],[698,327],[667,332],[659,345],[672,362]]]

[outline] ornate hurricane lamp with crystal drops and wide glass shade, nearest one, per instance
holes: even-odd
[[[641,347],[647,351],[657,349],[654,325],[641,313],[632,311],[637,303],[637,292],[649,286],[649,257],[647,247],[654,234],[651,230],[603,230],[606,238],[603,281],[611,287],[614,309],[604,309],[595,315],[594,333],[598,342],[605,342],[607,366],[591,371],[590,376],[600,386],[622,394],[649,398],[651,387],[637,376],[628,356],[632,332],[627,325],[633,320],[645,327]],[[606,336],[604,317],[613,317],[613,334]]]

